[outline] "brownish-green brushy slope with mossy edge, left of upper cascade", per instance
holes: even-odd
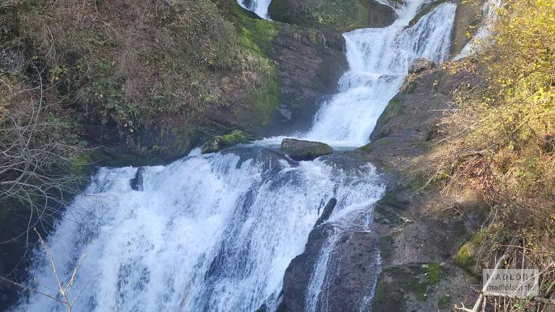
[[[271,122],[279,86],[267,55],[277,23],[235,1],[151,5],[117,0],[82,8],[37,0],[21,6],[21,37],[49,68],[49,83],[59,86],[49,93],[71,107],[75,125],[115,124],[136,153],[161,153],[164,133],[175,138],[173,147],[190,148],[195,129],[259,129]],[[140,146],[138,133],[150,129],[160,137]]]

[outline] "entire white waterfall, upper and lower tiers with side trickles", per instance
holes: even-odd
[[[262,2],[251,1],[260,5],[256,10],[265,7],[260,12],[266,16]],[[345,34],[350,70],[303,138],[366,143],[410,62],[445,59],[455,5],[439,5],[406,28],[423,1],[407,2],[390,27]],[[130,180],[137,175],[142,184],[133,190]],[[371,212],[383,192],[371,165],[337,154],[297,163],[256,144],[140,171],[101,168],[47,246],[60,278],[71,276],[86,255],[69,291],[69,298],[77,297],[73,311],[254,311],[263,303],[271,310],[288,263],[303,251],[319,216],[318,204],[337,198],[329,222],[346,228]],[[368,231],[369,223],[361,229]],[[308,307],[314,309],[325,301],[333,237],[309,285]],[[58,288],[41,250],[29,275],[36,278],[29,285],[40,291]],[[368,283],[366,305],[375,281]],[[31,293],[14,311],[65,309]]]

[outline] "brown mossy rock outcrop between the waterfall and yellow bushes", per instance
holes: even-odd
[[[486,218],[480,198],[424,188],[426,180],[414,173],[415,166],[425,166],[417,161],[428,146],[441,139],[436,125],[452,90],[468,75],[422,72],[390,101],[372,142],[354,152],[393,172],[393,183],[373,213],[382,272],[372,311],[451,311],[471,295],[463,285],[478,283],[460,268],[456,255]]]

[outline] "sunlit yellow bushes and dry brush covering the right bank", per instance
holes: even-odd
[[[499,311],[549,311],[555,302],[555,3],[513,0],[498,14],[493,42],[452,65],[482,82],[465,82],[454,94],[433,179],[445,192],[475,190],[491,207],[474,239],[478,251],[469,252],[469,245],[460,251],[476,257],[476,267],[493,268],[506,253],[504,268],[539,272],[537,294],[488,302]]]

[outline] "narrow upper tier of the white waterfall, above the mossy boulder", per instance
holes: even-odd
[[[361,146],[369,142],[375,123],[397,94],[418,57],[439,63],[448,56],[456,5],[439,5],[413,27],[412,1],[390,27],[357,29],[345,34],[349,71],[339,81],[340,92],[323,103],[306,140],[332,146]]]

